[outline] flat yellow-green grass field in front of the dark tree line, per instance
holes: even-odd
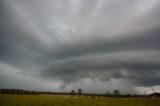
[[[160,99],[0,95],[0,106],[160,106]]]

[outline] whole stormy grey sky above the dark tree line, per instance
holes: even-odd
[[[160,0],[0,0],[0,88],[160,91]]]

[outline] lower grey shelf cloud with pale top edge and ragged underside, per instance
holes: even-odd
[[[48,78],[63,78],[68,83],[83,78],[99,78],[102,81],[111,78],[128,78],[136,80],[137,84],[141,82],[141,85],[149,86],[159,83],[159,59],[159,52],[98,54],[65,62],[53,62],[44,69],[42,75]],[[153,81],[153,78],[157,80]],[[149,79],[152,80],[147,81]]]

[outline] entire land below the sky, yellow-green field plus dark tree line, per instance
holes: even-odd
[[[0,89],[0,106],[160,106],[160,95],[124,95],[119,90],[87,94],[82,89],[70,93]]]

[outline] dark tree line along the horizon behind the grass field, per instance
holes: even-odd
[[[44,92],[44,91],[29,91],[23,89],[0,89],[0,94],[15,94],[15,95],[40,95],[40,94],[53,94],[53,95],[70,95],[74,96],[84,96],[84,97],[117,97],[117,98],[137,98],[137,97],[160,97],[160,93],[152,93],[150,95],[132,95],[132,94],[121,94],[119,90],[114,90],[112,93],[107,91],[105,94],[90,94],[83,93],[82,89],[78,89],[77,92],[75,90],[71,90],[69,93],[64,92]]]

